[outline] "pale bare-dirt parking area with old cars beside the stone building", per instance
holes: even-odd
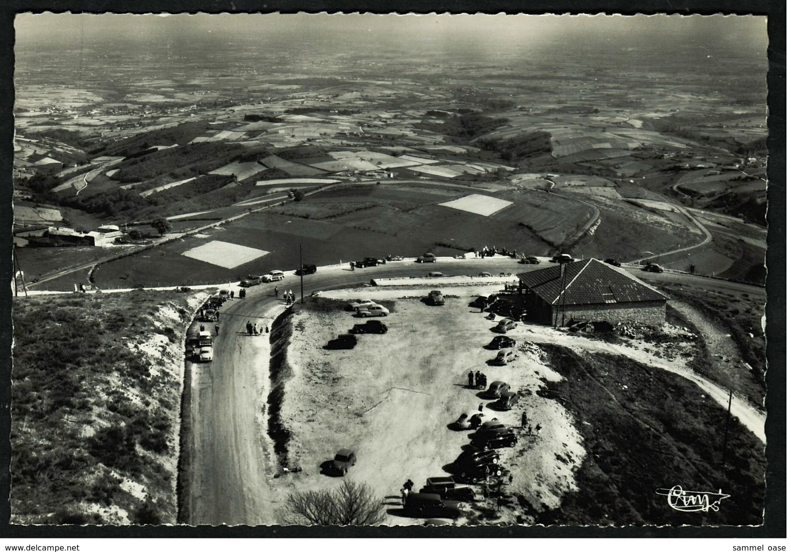
[[[340,479],[322,474],[321,465],[339,448],[349,447],[357,452],[358,463],[346,477],[367,483],[383,497],[387,523],[422,523],[404,516],[399,489],[407,478],[419,490],[426,478],[448,475],[446,468],[471,435],[448,425],[483,403],[486,412],[506,425],[519,425],[525,411],[530,425],[540,424],[542,431],[528,436],[517,429],[517,446],[499,451],[501,463],[513,474],[507,494],[520,508],[497,512],[487,501],[479,501],[466,520],[531,523],[529,512],[557,508],[562,496],[575,490],[573,471],[585,451],[566,410],[536,395],[542,378],[558,378],[543,364],[537,347],[517,338],[516,361],[507,366],[487,364],[496,351],[483,346],[498,334],[491,331],[494,323],[469,303],[496,287],[443,289],[444,306],[420,301],[428,287],[325,292],[323,297],[336,299],[394,301],[391,314],[382,319],[388,333],[358,335],[354,350],[323,346],[360,319],[337,306],[322,308],[321,301],[296,305],[286,350],[293,376],[285,385],[280,418],[290,432],[286,465],[302,471],[275,479],[272,499],[281,502],[293,491],[337,485]],[[467,372],[476,370],[486,373],[489,382],[503,380],[520,391],[517,406],[495,413],[491,399],[467,388]]]

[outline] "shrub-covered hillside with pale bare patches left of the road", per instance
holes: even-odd
[[[198,301],[14,301],[12,523],[175,523],[183,333]]]

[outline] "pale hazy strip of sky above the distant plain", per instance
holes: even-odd
[[[190,32],[220,35],[262,32],[381,33],[388,36],[488,36],[498,40],[531,40],[542,36],[596,36],[607,40],[739,40],[744,47],[765,48],[766,18],[751,16],[540,16],[540,15],[374,15],[374,14],[179,14],[90,15],[42,13],[17,15],[17,40],[70,36],[161,36]]]

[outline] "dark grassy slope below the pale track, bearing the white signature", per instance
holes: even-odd
[[[565,380],[539,391],[563,397],[585,439],[579,491],[560,509],[539,514],[544,524],[760,524],[763,445],[730,422],[721,465],[725,411],[691,382],[624,357],[576,354],[543,345]],[[676,512],[658,488],[730,494],[719,512]]]

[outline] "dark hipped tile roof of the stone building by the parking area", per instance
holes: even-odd
[[[566,298],[562,299],[560,265],[518,274],[520,282],[543,301],[566,305],[667,301],[656,289],[597,259],[566,264]]]

